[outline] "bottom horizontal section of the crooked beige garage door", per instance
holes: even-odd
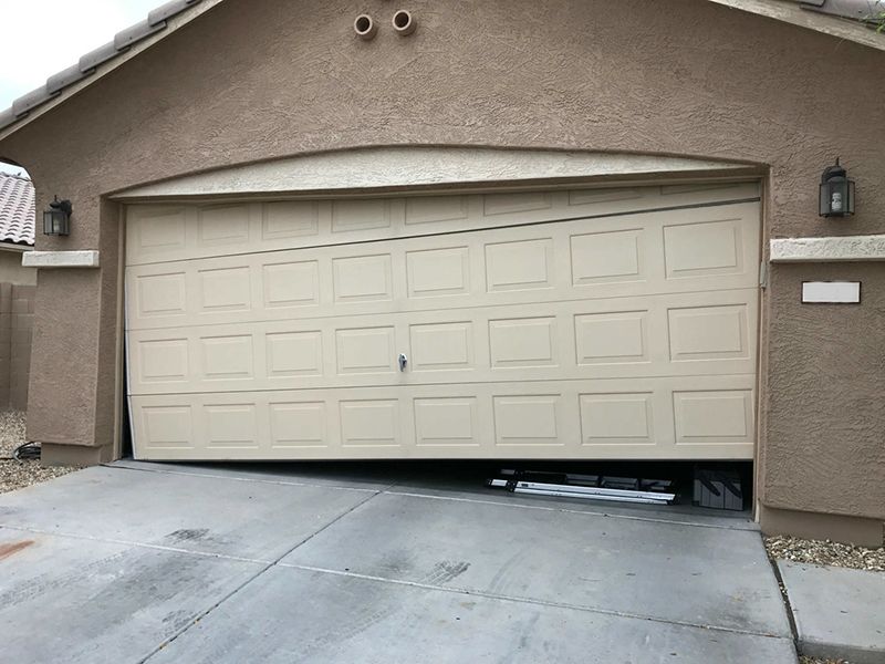
[[[425,385],[407,394],[385,387],[136,396],[136,454],[746,459],[753,454],[752,437],[743,433],[752,412],[740,404],[751,406],[753,382],[705,376]]]

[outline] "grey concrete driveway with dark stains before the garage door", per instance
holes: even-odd
[[[0,496],[2,658],[794,664],[746,518],[476,479],[121,463]]]

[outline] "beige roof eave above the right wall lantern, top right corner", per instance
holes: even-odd
[[[885,51],[885,35],[876,33],[867,25],[852,19],[819,13],[802,9],[795,0],[709,0],[731,9],[768,17],[792,23],[806,30],[822,32],[830,37],[852,41],[871,49]]]

